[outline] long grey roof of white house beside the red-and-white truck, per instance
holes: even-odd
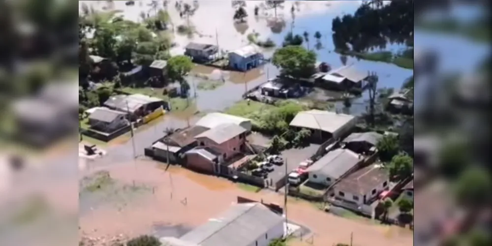
[[[308,172],[321,172],[333,179],[339,179],[359,163],[359,155],[346,149],[336,149],[325,154],[307,168]]]

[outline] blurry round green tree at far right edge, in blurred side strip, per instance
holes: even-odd
[[[468,208],[482,208],[492,201],[490,173],[482,167],[468,166],[458,178],[455,194],[458,202]]]

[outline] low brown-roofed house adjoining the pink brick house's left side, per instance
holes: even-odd
[[[180,163],[181,155],[198,145],[195,136],[207,130],[208,127],[194,125],[164,136],[152,145],[154,158],[166,162],[169,158],[169,163]]]

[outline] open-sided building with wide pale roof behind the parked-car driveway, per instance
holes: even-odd
[[[356,123],[357,118],[353,115],[313,109],[299,112],[289,125],[296,131],[309,129],[313,141],[325,142],[330,138],[339,139],[348,135]]]

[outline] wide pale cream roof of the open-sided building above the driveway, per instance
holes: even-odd
[[[353,119],[353,115],[313,109],[299,112],[289,125],[334,133]]]

